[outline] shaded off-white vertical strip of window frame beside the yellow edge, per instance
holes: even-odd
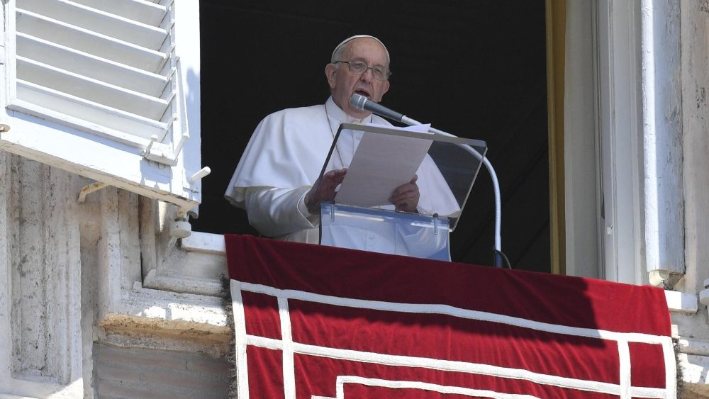
[[[598,214],[597,73],[594,68],[593,1],[566,4],[564,73],[564,204],[566,206],[566,274],[601,277]]]

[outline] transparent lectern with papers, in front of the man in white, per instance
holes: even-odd
[[[449,235],[487,148],[481,140],[427,130],[428,125],[340,125],[316,182],[347,167],[334,200],[320,205],[321,245],[450,261]],[[414,176],[420,192],[416,212],[394,210],[391,194]]]

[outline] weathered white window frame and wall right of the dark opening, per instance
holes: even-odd
[[[709,397],[709,300],[698,302],[700,294],[709,298],[709,4],[567,6],[567,269],[630,283],[647,283],[647,269],[674,273],[667,298],[687,397]],[[650,24],[644,40],[642,23]],[[659,64],[642,79],[649,53]],[[595,158],[588,156],[594,144]],[[591,181],[602,201],[595,215]]]

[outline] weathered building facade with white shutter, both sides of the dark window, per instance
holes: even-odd
[[[560,262],[665,288],[708,396],[709,3],[563,4]],[[0,398],[228,395],[223,240],[189,226],[198,5],[2,2]]]

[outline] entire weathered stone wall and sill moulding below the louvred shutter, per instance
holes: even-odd
[[[228,352],[224,259],[175,249],[174,206],[113,187],[77,203],[89,179],[7,152],[0,180],[0,395],[96,397],[96,342],[156,359]],[[145,264],[189,270],[171,276],[184,292],[143,288]]]

